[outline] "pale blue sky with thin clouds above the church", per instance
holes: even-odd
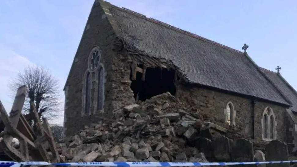
[[[8,82],[27,65],[46,67],[63,87],[93,0],[0,1],[0,99],[7,111],[13,99]],[[297,89],[296,0],[109,0],[223,45],[247,53]],[[295,48],[295,49],[294,49]],[[61,104],[63,107],[64,104]],[[63,124],[61,117],[51,123]]]

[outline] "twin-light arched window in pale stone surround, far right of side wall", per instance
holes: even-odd
[[[262,117],[262,138],[263,140],[276,139],[275,115],[270,107],[266,107]]]

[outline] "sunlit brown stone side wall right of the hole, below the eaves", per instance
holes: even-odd
[[[228,128],[228,124],[225,124],[224,109],[228,102],[232,102],[236,111],[236,125],[244,132],[245,137],[251,138],[253,131],[253,99],[220,93],[205,88],[188,88],[183,85],[178,87],[176,96],[184,102],[184,107],[187,110],[194,110],[201,115],[204,121],[210,121],[225,128]],[[286,132],[284,131],[286,108],[261,101],[257,101],[255,104],[255,140],[262,140],[262,114],[267,106],[272,108],[276,117],[277,139],[286,141]]]

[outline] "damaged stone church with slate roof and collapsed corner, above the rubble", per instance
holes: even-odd
[[[247,138],[296,149],[297,92],[244,52],[95,0],[65,83],[64,134],[170,92]]]

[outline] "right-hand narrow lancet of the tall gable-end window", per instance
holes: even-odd
[[[97,111],[102,111],[104,104],[104,69],[102,66],[99,67],[97,83]]]

